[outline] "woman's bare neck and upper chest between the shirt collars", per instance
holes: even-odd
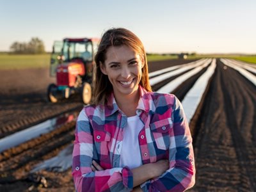
[[[133,93],[132,95],[127,95],[125,97],[115,97],[116,104],[125,115],[134,116],[136,115],[136,108],[140,99],[140,91]]]

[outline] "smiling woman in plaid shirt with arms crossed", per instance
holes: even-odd
[[[94,95],[77,118],[72,175],[77,191],[184,191],[195,183],[191,134],[179,100],[152,92],[140,39],[104,33]]]

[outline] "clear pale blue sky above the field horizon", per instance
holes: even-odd
[[[130,29],[147,52],[256,54],[255,0],[0,0],[0,51]]]

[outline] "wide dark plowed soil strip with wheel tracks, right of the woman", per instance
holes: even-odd
[[[195,191],[256,191],[256,88],[217,68],[195,127]]]

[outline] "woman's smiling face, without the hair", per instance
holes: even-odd
[[[140,54],[126,45],[109,47],[100,70],[108,76],[115,97],[129,97],[138,93],[144,61]]]

